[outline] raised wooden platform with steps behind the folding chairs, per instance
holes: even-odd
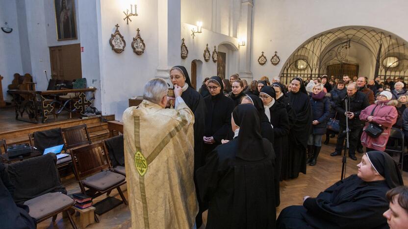
[[[60,117],[64,119],[64,116]],[[115,120],[115,115],[103,116],[107,121]],[[101,121],[101,117],[93,117],[88,119],[67,119],[63,121],[49,123],[28,123],[15,119],[14,108],[0,109],[0,139],[6,139],[7,145],[28,143],[28,134],[35,131],[48,130],[52,128],[65,128],[86,124],[91,137],[91,140],[98,141],[109,137],[109,130],[106,121]]]

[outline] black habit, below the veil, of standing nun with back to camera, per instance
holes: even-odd
[[[266,157],[246,161],[235,157],[237,138],[213,150],[197,170],[198,188],[208,203],[206,228],[275,228],[275,154],[263,138]]]

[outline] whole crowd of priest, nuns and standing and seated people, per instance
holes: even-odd
[[[383,151],[397,119],[400,128],[408,126],[407,95],[399,83],[388,91],[354,78],[295,77],[286,86],[279,77],[248,84],[234,74],[205,78],[197,92],[187,70],[176,66],[170,71],[175,97],[167,96],[163,79],[149,81],[144,101],[123,117],[126,166],[135,171],[128,187],[137,193],[129,194],[132,225],[199,228],[208,210],[207,228],[405,227],[408,188]],[[166,109],[171,101],[174,109]],[[327,131],[329,118],[340,126],[331,156],[341,155],[346,120],[349,157],[357,160],[356,151],[366,147],[358,173],[316,198],[306,196],[303,206],[283,209],[276,220],[280,181],[306,174],[306,164],[317,163],[323,136],[337,134]],[[372,136],[373,126],[382,129],[379,136]],[[146,173],[134,169],[135,155],[146,158]]]

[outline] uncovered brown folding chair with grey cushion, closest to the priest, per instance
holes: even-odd
[[[121,185],[126,183],[122,174],[112,172],[112,166],[103,142],[73,148],[75,176],[81,192],[92,198],[117,189],[125,205]],[[88,189],[85,189],[88,188]]]

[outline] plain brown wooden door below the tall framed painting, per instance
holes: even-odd
[[[50,47],[51,78],[82,78],[80,44]]]

